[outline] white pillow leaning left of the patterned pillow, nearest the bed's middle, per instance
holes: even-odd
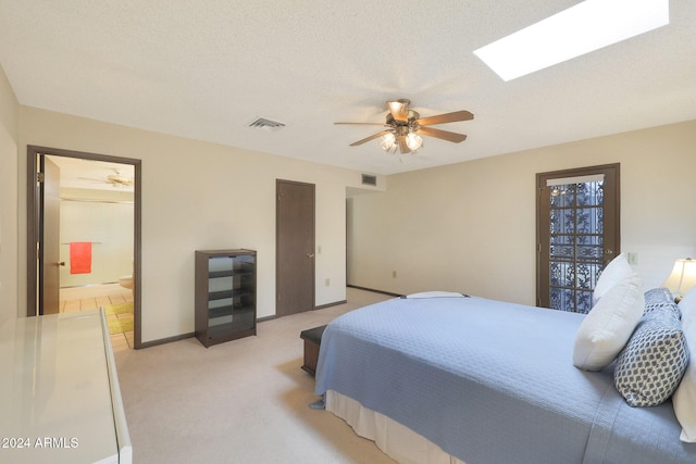
[[[637,274],[617,283],[583,319],[573,347],[573,364],[600,371],[619,355],[645,310],[643,283]]]

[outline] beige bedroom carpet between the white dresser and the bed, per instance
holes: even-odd
[[[393,463],[343,419],[309,407],[316,397],[300,369],[300,331],[390,298],[347,294],[347,304],[260,323],[257,337],[115,353],[134,462]]]

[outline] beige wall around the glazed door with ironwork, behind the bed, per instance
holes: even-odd
[[[535,174],[608,163],[621,163],[622,251],[659,286],[696,258],[696,121],[389,176],[349,201],[348,283],[534,304]]]

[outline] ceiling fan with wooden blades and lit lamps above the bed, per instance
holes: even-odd
[[[449,130],[430,127],[437,124],[456,123],[458,121],[470,121],[474,115],[469,111],[456,111],[453,113],[439,114],[436,116],[421,117],[419,113],[409,109],[410,100],[399,99],[387,101],[389,112],[386,122],[382,123],[334,123],[353,124],[368,126],[383,126],[384,130],[373,134],[362,140],[350,143],[357,147],[366,141],[382,137],[380,146],[387,153],[396,153],[397,149],[401,154],[415,152],[423,145],[421,136],[435,137],[438,139],[459,143],[467,139],[464,134],[450,133]]]

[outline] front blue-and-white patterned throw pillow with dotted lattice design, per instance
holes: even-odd
[[[643,316],[619,354],[617,390],[630,406],[655,406],[672,396],[688,364],[681,323],[670,310]]]

